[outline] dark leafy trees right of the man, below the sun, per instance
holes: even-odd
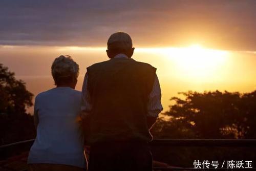
[[[158,138],[256,138],[256,91],[183,92],[159,119],[152,133]]]

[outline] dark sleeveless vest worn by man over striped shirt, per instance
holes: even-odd
[[[92,113],[88,143],[150,141],[148,95],[156,68],[131,58],[113,58],[87,68]]]

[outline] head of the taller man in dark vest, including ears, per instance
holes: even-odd
[[[116,32],[113,33],[108,39],[108,50],[106,50],[106,53],[108,54],[109,58],[113,58],[119,53],[132,57],[133,51],[134,48],[132,38],[127,33]]]

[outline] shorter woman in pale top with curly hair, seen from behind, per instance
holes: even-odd
[[[35,98],[37,135],[28,157],[29,170],[84,170],[83,139],[76,118],[81,92],[74,90],[79,66],[70,56],[52,64],[56,88]]]

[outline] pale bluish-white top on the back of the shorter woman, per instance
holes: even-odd
[[[66,164],[85,167],[83,139],[76,118],[80,111],[81,92],[58,87],[37,95],[36,140],[28,163]]]

